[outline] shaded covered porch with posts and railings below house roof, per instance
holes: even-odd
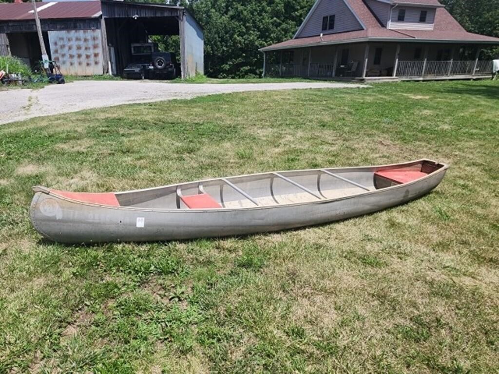
[[[493,73],[476,44],[363,42],[264,51],[263,76],[360,80],[479,79]]]

